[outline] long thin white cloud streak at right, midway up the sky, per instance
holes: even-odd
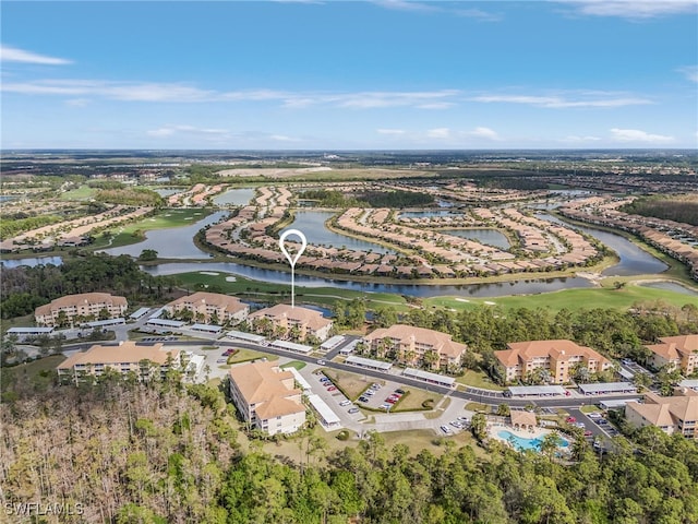
[[[570,98],[569,96],[574,96],[574,98]],[[624,107],[652,104],[652,100],[648,98],[603,92],[571,93],[567,97],[559,95],[480,95],[470,99],[472,102],[481,102],[485,104],[526,104],[553,109],[563,109],[568,107]]]

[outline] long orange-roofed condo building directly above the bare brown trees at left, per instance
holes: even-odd
[[[160,379],[169,369],[181,369],[179,349],[164,349],[163,344],[140,346],[122,342],[118,346],[94,345],[74,353],[56,368],[61,383],[75,384],[94,380],[111,369],[121,374],[135,373],[139,380]]]

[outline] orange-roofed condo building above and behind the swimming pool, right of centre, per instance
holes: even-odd
[[[507,382],[527,380],[535,370],[547,373],[547,381],[564,384],[581,367],[588,373],[605,371],[613,365],[590,347],[571,341],[528,341],[507,344],[508,349],[494,352]]]

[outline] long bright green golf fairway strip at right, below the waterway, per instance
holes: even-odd
[[[657,275],[653,275],[657,278]],[[619,278],[615,278],[619,279]],[[561,309],[578,310],[594,308],[611,308],[626,310],[638,301],[663,300],[676,307],[682,307],[696,300],[689,295],[666,289],[643,287],[635,284],[621,289],[612,287],[597,287],[591,289],[565,289],[562,291],[543,293],[539,295],[515,295],[507,297],[468,298],[467,302],[459,297],[434,297],[424,299],[425,306],[438,308],[474,309],[479,306],[498,306],[505,310],[517,308],[546,308],[553,312]],[[490,302],[490,303],[485,303]]]

